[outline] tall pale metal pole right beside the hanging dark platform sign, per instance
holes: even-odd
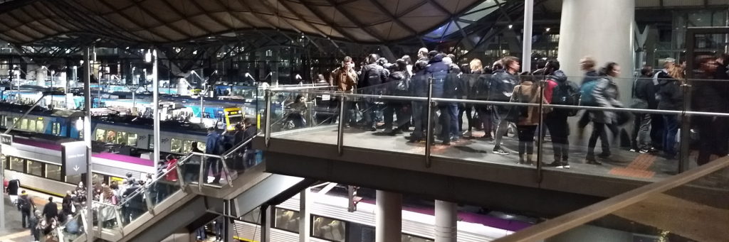
[[[93,48],[93,47],[92,47]],[[91,48],[84,52],[84,142],[86,143],[86,221],[93,224],[93,172],[91,170],[91,62],[89,55]],[[86,241],[94,241],[93,233],[86,233]]]

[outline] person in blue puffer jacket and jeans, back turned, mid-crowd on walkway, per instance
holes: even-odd
[[[426,67],[426,76],[432,78],[433,86],[433,97],[445,97],[446,86],[448,86],[448,70],[451,66],[443,62],[444,54],[435,55]],[[439,103],[438,109],[440,110],[440,138],[443,140],[443,145],[451,145],[451,105],[449,103]],[[434,120],[435,118],[433,118]]]

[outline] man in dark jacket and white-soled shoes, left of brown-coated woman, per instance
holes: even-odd
[[[514,92],[514,86],[519,82],[517,74],[521,70],[521,64],[517,57],[504,57],[502,59],[504,70],[494,71],[491,76],[491,92],[489,98],[497,102],[510,102],[511,95]],[[494,141],[494,153],[499,155],[508,155],[509,152],[501,148],[502,138],[509,128],[509,121],[504,120],[509,113],[511,106],[494,105],[494,121],[496,122],[496,140]]]

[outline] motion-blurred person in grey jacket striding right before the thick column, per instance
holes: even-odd
[[[623,108],[623,104],[618,101],[620,93],[617,89],[617,84],[613,81],[613,78],[620,76],[620,65],[615,62],[608,62],[607,65],[602,69],[604,77],[599,78],[599,81],[593,88],[591,94],[593,100],[597,103],[598,107],[603,108]],[[608,158],[610,156],[610,143],[607,137],[607,125],[612,124],[616,119],[615,113],[612,111],[595,110],[590,112],[590,121],[593,122],[593,132],[588,140],[588,164],[601,165],[600,161],[595,158],[595,146],[597,140],[600,139],[602,147],[602,153],[599,157]]]

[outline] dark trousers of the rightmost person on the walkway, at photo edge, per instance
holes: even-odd
[[[696,117],[696,126],[699,130],[699,165],[709,163],[712,155],[727,156],[728,118],[721,117]]]

